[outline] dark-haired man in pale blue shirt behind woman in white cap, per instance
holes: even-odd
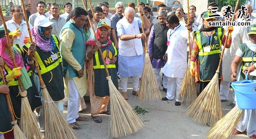
[[[57,3],[52,3],[50,5],[50,12],[52,15],[50,15],[47,19],[55,23],[52,24],[52,34],[59,37],[60,30],[62,30],[62,27],[65,25],[66,20],[63,17],[59,16],[59,5],[57,5]]]

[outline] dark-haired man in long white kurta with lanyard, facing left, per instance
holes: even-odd
[[[181,104],[179,100],[180,86],[187,69],[187,41],[188,33],[184,25],[180,25],[175,15],[169,15],[166,25],[170,28],[167,32],[167,51],[164,59],[167,63],[161,70],[167,77],[167,95],[162,100],[173,100],[176,95],[175,105]],[[190,39],[192,40],[192,39]],[[192,43],[192,42],[191,42]]]

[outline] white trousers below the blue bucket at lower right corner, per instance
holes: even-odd
[[[256,109],[244,110],[242,118],[237,125],[237,130],[240,132],[247,130],[249,137],[256,134]]]

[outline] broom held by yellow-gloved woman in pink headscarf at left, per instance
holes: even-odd
[[[1,9],[1,7],[0,7],[0,9]],[[7,43],[9,46],[9,53],[12,58],[14,67],[17,67],[15,58],[13,55],[13,51],[12,51],[12,46],[10,45],[11,42],[9,40],[9,34],[8,34],[7,27],[5,24],[5,19],[3,17],[2,10],[0,10],[0,11],[1,11],[0,15],[2,18],[2,24],[5,28],[5,35],[6,35]],[[21,131],[24,133],[25,137],[28,139],[33,139],[33,138],[42,139],[42,135],[38,128],[36,118],[33,115],[33,111],[31,110],[31,106],[28,102],[27,92],[23,88],[20,77],[17,77],[17,79],[19,81],[19,87],[21,89],[21,92],[20,92],[20,95],[21,95],[21,118],[20,119],[21,120],[20,120],[20,124],[19,124]]]

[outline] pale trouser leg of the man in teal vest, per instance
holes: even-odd
[[[79,117],[79,99],[80,94],[76,88],[76,84],[72,79],[68,80],[68,88],[69,88],[69,102],[68,102],[68,115],[67,122],[74,123],[76,122],[76,118]]]

